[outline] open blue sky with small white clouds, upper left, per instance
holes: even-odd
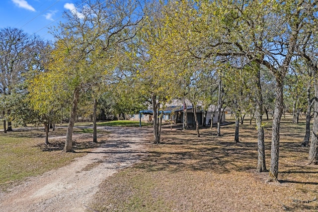
[[[77,0],[1,0],[0,28],[14,27],[52,40],[49,26],[64,21],[63,12],[74,10]]]

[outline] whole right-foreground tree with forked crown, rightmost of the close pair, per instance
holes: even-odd
[[[272,53],[269,55],[273,62],[263,61],[273,72],[276,81],[269,182],[278,180],[279,128],[283,110],[283,80],[289,71],[289,65],[295,55],[296,47],[303,44],[304,40],[300,38],[300,34],[308,25],[308,18],[313,16],[316,9],[317,2],[273,2],[273,15],[275,15],[276,22],[280,24],[281,33],[279,33],[277,39],[274,38],[273,44],[275,46],[272,47]],[[277,53],[283,57],[281,62],[277,60]]]

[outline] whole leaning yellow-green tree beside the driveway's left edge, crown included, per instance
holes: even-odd
[[[78,12],[66,13],[68,21],[53,31],[58,42],[50,69],[59,67],[59,72],[69,76],[65,84],[73,93],[65,152],[72,151],[79,93],[94,82],[96,74],[100,76],[100,71],[105,81],[112,79],[118,62],[114,55],[121,43],[135,36],[143,18],[142,5],[137,0],[88,0],[80,7]]]

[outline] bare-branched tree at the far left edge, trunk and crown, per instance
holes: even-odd
[[[34,60],[40,56],[43,41],[36,36],[30,36],[17,28],[0,29],[0,95],[3,101],[25,80],[26,73],[34,68]],[[10,103],[3,102],[1,107],[3,118],[7,118],[7,130],[12,130]],[[6,114],[6,115],[5,115]],[[5,127],[5,119],[3,119]]]

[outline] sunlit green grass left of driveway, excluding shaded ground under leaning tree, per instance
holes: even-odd
[[[10,132],[17,133],[17,132]],[[39,138],[8,137],[0,135],[0,188],[5,189],[25,177],[42,174],[68,164],[86,153],[42,151],[35,147],[44,142]]]

